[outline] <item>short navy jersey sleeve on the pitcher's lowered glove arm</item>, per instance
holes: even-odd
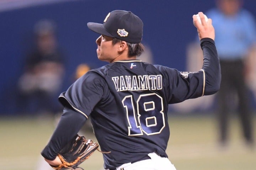
[[[89,71],[76,80],[66,92],[60,94],[59,101],[63,106],[71,107],[88,118],[101,100],[105,84],[100,75]]]

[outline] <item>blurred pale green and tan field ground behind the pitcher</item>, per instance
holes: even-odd
[[[48,170],[40,166],[40,152],[55,128],[54,122],[0,117],[0,169]],[[256,149],[246,147],[236,118],[230,122],[230,145],[225,148],[218,146],[217,124],[213,117],[169,116],[169,122],[171,135],[167,154],[177,170],[255,170]],[[255,124],[254,118],[254,133]],[[92,133],[83,135],[96,141]],[[81,167],[102,170],[102,154],[95,151]]]

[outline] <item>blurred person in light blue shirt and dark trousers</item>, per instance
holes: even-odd
[[[245,83],[244,62],[250,50],[255,47],[256,23],[252,14],[242,8],[242,3],[242,0],[216,0],[216,8],[206,12],[208,18],[214,21],[215,43],[222,69],[222,82],[217,93],[219,142],[222,146],[228,143],[230,111],[236,109],[245,141],[249,146],[254,145],[251,102]]]

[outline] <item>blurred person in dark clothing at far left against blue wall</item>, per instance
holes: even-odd
[[[60,106],[56,98],[64,75],[64,56],[59,50],[56,24],[42,20],[34,25],[35,49],[26,58],[24,73],[18,81],[21,111],[53,114]]]

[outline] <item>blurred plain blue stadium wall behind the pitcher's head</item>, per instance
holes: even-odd
[[[197,35],[192,15],[214,6],[214,0],[75,0],[0,12],[0,114],[11,114],[15,108],[12,98],[38,20],[52,19],[58,25],[59,45],[66,54],[64,91],[79,63],[107,64],[97,59],[98,35],[87,22],[102,23],[116,9],[132,11],[144,22],[143,43],[150,47],[154,63],[185,70],[186,47]],[[256,16],[255,0],[244,0],[244,7]]]

